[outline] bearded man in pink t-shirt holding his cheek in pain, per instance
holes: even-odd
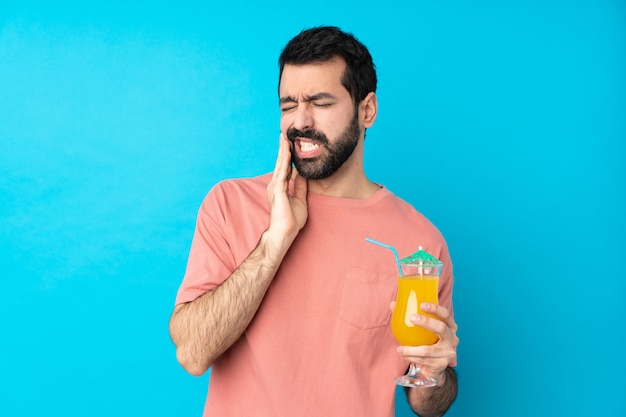
[[[177,358],[193,375],[212,367],[206,416],[393,416],[394,378],[410,361],[438,381],[408,389],[411,407],[442,415],[457,391],[450,256],[426,218],[365,175],[372,58],[318,27],[279,63],[274,172],[223,181],[202,203],[170,322]],[[440,305],[423,306],[439,320],[411,318],[435,345],[398,347],[393,257],[366,237],[444,262]]]

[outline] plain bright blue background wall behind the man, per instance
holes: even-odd
[[[369,176],[455,261],[449,415],[626,415],[625,3],[214,3],[0,5],[0,414],[201,415],[198,206],[272,169],[278,54],[333,24],[378,68]]]

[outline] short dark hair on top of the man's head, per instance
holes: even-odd
[[[291,39],[278,59],[280,74],[285,64],[304,65],[326,62],[339,57],[346,62],[341,83],[357,106],[370,92],[376,92],[376,68],[369,51],[351,33],[334,26],[303,30]]]

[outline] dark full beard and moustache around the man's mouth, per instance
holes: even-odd
[[[291,161],[298,173],[308,180],[328,178],[350,158],[359,143],[360,136],[358,111],[354,112],[350,124],[334,143],[330,143],[324,133],[315,129],[300,131],[292,127],[287,131],[287,139],[291,143]],[[324,148],[324,152],[315,158],[300,158],[295,151],[296,137],[315,140]]]

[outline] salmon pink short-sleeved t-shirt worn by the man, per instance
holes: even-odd
[[[217,184],[198,214],[176,303],[222,283],[269,224],[271,174]],[[452,308],[452,265],[439,231],[386,188],[367,199],[309,193],[309,216],[241,338],[211,368],[204,416],[394,415],[396,352],[389,303],[401,257],[444,263],[440,304]],[[402,399],[405,401],[405,399]]]

